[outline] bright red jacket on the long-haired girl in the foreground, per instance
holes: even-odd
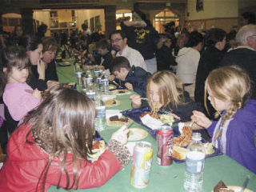
[[[7,159],[0,170],[0,191],[35,191],[38,178],[46,166],[49,158],[39,146],[26,143],[26,134],[30,126],[22,125],[14,131],[10,137],[7,148]],[[32,134],[29,139],[33,140]],[[50,164],[46,178],[46,190],[50,186],[57,186],[61,173],[61,166],[58,158]],[[70,175],[70,183],[73,182],[72,154],[66,159],[67,171]],[[82,173],[78,189],[86,189],[102,186],[114,174],[121,169],[118,158],[109,150],[106,150],[98,161],[90,163],[82,161]],[[61,187],[66,186],[66,175],[62,174]],[[75,187],[76,185],[74,185]]]

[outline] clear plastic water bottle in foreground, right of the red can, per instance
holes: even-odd
[[[192,142],[186,150],[186,172],[184,179],[184,188],[186,191],[202,191],[206,152],[201,140],[201,134],[194,133],[192,135]]]

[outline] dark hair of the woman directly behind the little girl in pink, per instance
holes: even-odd
[[[32,34],[26,34],[22,36],[19,41],[19,46],[23,46],[26,51],[38,49],[39,44],[42,44],[41,38],[38,38]]]

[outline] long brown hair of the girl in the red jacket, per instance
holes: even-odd
[[[93,154],[94,117],[94,102],[85,94],[70,89],[55,90],[37,109],[26,115],[24,122],[30,123],[26,142],[49,154],[46,166],[41,168],[36,191],[45,191],[48,170],[54,158],[62,158],[57,186],[65,180],[66,190],[78,189],[82,160],[88,161]],[[31,134],[34,141],[29,138]],[[73,173],[70,175],[66,165],[69,154],[73,155]]]

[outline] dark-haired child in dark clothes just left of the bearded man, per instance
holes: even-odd
[[[106,39],[101,39],[99,42],[96,42],[96,49],[98,54],[101,55],[101,60],[99,65],[104,66],[105,69],[110,70],[110,63],[112,61],[112,54],[110,53],[110,45]]]

